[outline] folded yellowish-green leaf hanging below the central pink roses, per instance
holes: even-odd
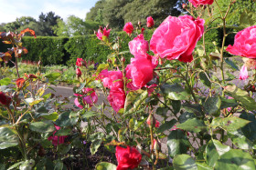
[[[124,103],[124,115],[133,114],[148,97],[147,90],[131,91],[126,96]]]

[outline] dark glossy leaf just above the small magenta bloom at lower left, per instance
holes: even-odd
[[[61,127],[70,126],[70,125],[75,125],[78,122],[78,120],[79,120],[79,117],[72,117],[71,112],[68,111],[59,115],[55,124]]]

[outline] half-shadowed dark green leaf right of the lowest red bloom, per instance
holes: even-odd
[[[180,129],[171,131],[167,136],[168,153],[171,156],[186,154],[188,146],[186,133]]]

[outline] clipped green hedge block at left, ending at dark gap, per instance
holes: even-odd
[[[60,65],[65,64],[69,57],[64,49],[67,37],[27,36],[23,37],[22,41],[28,50],[27,55],[22,56],[23,60],[41,60],[42,65]]]

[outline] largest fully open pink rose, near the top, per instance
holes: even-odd
[[[204,22],[189,15],[168,16],[152,35],[150,50],[167,60],[191,62],[197,41],[204,33]]]

